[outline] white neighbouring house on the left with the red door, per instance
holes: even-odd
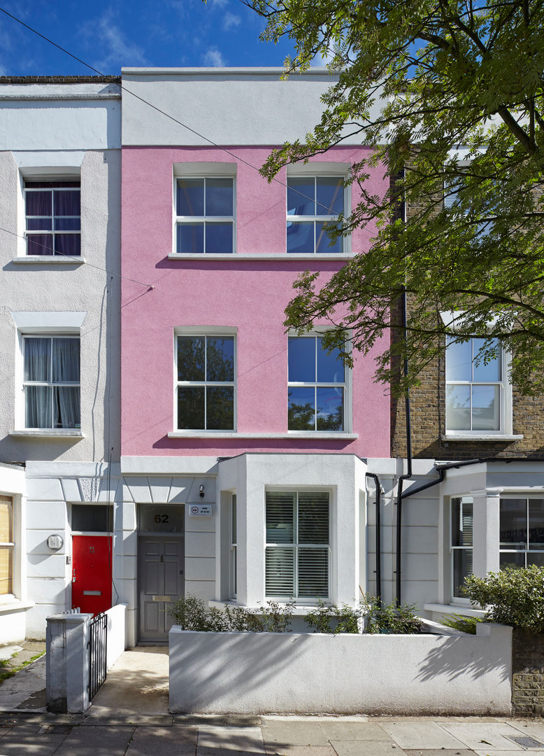
[[[117,82],[0,79],[0,643],[45,637],[45,618],[84,593],[97,608],[111,603]],[[100,585],[95,553],[105,562]]]

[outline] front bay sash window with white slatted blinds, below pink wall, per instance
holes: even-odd
[[[329,598],[327,491],[267,491],[265,593],[302,603]]]

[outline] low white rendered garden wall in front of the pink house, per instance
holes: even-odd
[[[478,634],[169,634],[170,711],[510,714],[512,628]]]

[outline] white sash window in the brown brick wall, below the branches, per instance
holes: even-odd
[[[446,352],[446,429],[484,433],[505,432],[505,370],[502,352],[493,339],[478,356],[485,339],[456,342]]]

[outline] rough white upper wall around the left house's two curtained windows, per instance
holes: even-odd
[[[0,88],[1,91],[1,88]],[[0,113],[2,102],[0,101]],[[81,113],[80,113],[81,116]],[[78,160],[81,156],[78,157]],[[48,153],[66,165],[64,153]],[[63,163],[64,161],[64,163]],[[36,163],[43,163],[42,156]],[[36,170],[39,166],[36,167]],[[42,166],[43,167],[43,166]],[[75,166],[76,167],[76,166]],[[82,259],[34,263],[21,256],[24,230],[16,156],[0,153],[0,461],[119,460],[120,152],[82,156]],[[32,169],[26,169],[32,175]],[[81,412],[84,438],[29,438],[23,428],[22,359],[12,312],[85,313],[81,327]],[[40,318],[37,318],[39,321]],[[113,449],[113,451],[111,451]]]

